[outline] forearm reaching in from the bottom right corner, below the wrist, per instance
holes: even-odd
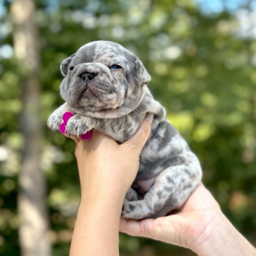
[[[205,240],[196,248],[191,248],[199,256],[256,256],[256,249],[238,232],[229,220],[221,214],[218,225],[206,228]]]

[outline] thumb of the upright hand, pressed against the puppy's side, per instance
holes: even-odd
[[[152,113],[147,113],[139,129],[135,132],[131,139],[125,142],[125,144],[132,144],[137,146],[139,149],[142,149],[142,147],[146,144],[147,139],[149,139],[153,119],[154,115]]]

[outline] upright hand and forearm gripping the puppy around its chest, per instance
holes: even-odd
[[[70,256],[119,255],[122,204],[137,174],[140,152],[150,131],[149,121],[144,120],[136,134],[121,145],[97,131],[93,131],[90,141],[72,137],[76,142],[81,203]]]

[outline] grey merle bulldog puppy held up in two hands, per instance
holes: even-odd
[[[48,127],[58,130],[66,111],[75,114],[66,131],[81,135],[95,129],[117,142],[129,139],[147,112],[152,130],[140,155],[134,184],[127,191],[122,216],[157,218],[180,208],[201,180],[197,157],[165,119],[165,109],[147,88],[151,77],[139,58],[110,41],[87,43],[61,63],[61,97]]]

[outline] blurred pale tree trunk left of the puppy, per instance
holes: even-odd
[[[42,127],[40,122],[40,54],[35,2],[12,3],[13,41],[22,71],[21,132],[24,139],[19,173],[18,214],[22,256],[49,256],[49,218],[46,206],[46,178],[40,168]]]

